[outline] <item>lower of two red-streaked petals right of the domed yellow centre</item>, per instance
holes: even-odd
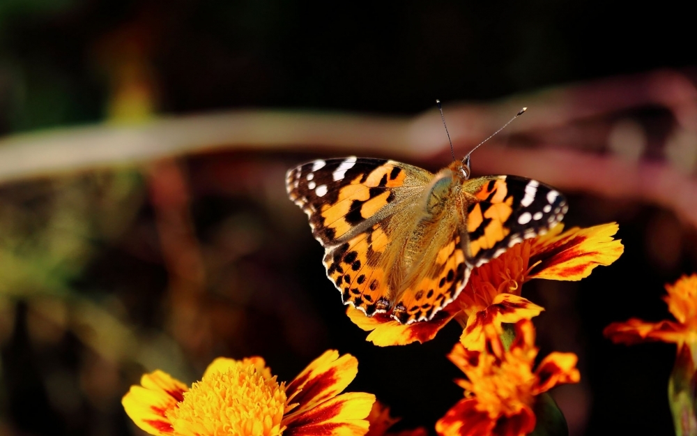
[[[293,414],[283,421],[284,436],[364,436],[369,422],[365,419],[375,403],[372,393],[349,392],[321,405]]]

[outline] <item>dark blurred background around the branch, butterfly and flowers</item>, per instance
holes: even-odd
[[[486,102],[664,68],[694,78],[694,14],[686,8],[4,0],[0,133],[130,122],[130,110],[411,115],[435,98]],[[666,119],[652,107],[638,113],[657,125]],[[401,427],[434,433],[461,398],[452,383],[459,374],[445,359],[459,328],[425,345],[365,342],[325,278],[303,214],[284,199],[284,170],[316,157],[219,152],[155,170],[0,186],[0,435],[135,434],[119,401],[144,371],[192,382],[215,356],[258,354],[289,381],[328,348],[358,356],[350,389],[376,393],[404,416]],[[169,176],[187,183],[183,214],[156,188]],[[602,329],[630,316],[666,317],[664,283],[697,263],[694,229],[637,202],[582,193],[570,202],[568,225],[618,220],[625,244],[618,262],[590,278],[533,282],[523,294],[547,309],[536,321],[541,355],[579,354],[582,384],[556,391],[571,433],[671,434],[673,347],[611,345]],[[173,277],[167,250],[176,241],[168,245],[166,232],[180,227],[170,212],[185,217],[192,241],[184,245],[201,254],[203,284]],[[110,341],[119,350],[111,355]]]

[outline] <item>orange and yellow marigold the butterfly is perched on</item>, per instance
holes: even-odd
[[[464,334],[473,335],[468,346],[481,345],[482,323],[494,318],[496,325],[529,320],[544,310],[520,296],[523,283],[533,278],[581,280],[596,266],[615,262],[624,250],[620,240],[613,239],[616,223],[562,230],[559,224],[473,269],[458,298],[430,321],[405,325],[384,314],[367,317],[354,308],[346,313],[360,329],[370,331],[367,340],[381,347],[424,343],[452,319],[466,326]]]

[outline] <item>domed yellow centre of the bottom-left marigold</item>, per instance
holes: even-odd
[[[285,403],[283,383],[238,362],[194,383],[167,417],[177,435],[278,436]]]

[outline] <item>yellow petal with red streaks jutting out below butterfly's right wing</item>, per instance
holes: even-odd
[[[609,265],[622,255],[625,247],[613,239],[619,226],[609,223],[581,229],[574,227],[562,234],[550,232],[533,240],[530,248],[530,278],[581,280],[598,265]]]

